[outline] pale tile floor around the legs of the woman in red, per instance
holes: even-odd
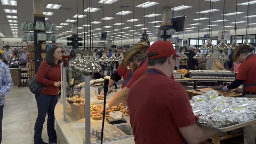
[[[14,86],[5,98],[2,144],[33,144],[37,117],[35,95],[28,87]],[[48,142],[46,122],[42,138]]]

